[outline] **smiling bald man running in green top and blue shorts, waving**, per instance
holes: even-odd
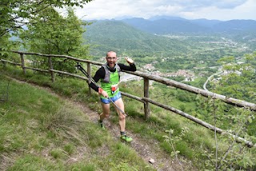
[[[125,58],[129,66],[122,63],[117,63],[117,54],[114,51],[109,51],[106,54],[106,64],[103,65],[94,75],[94,81],[101,81],[101,87],[97,87],[94,83],[90,83],[90,87],[100,94],[102,113],[99,115],[98,123],[104,129],[103,120],[110,116],[110,99],[115,105],[124,112],[124,103],[118,88],[120,82],[120,71],[136,71],[136,66],[131,58]],[[110,99],[109,99],[110,98]],[[114,106],[119,116],[119,126],[121,139],[127,142],[132,141],[131,137],[126,136],[126,116]]]

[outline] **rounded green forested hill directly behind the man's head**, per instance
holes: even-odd
[[[108,50],[138,55],[159,51],[178,54],[189,46],[178,39],[148,34],[119,21],[95,21],[86,26],[84,38],[93,46],[91,54],[96,56],[105,55]]]

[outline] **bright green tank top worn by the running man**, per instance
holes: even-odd
[[[111,85],[117,85],[119,82],[118,70],[116,70],[114,73],[111,73],[109,70],[106,72],[109,72],[109,74],[110,74],[110,82],[104,82],[103,79],[101,79],[102,89],[104,89],[104,91],[106,91],[106,93],[109,95],[109,97],[114,97],[119,92],[119,88],[116,89],[114,91],[114,93],[112,93]],[[101,97],[106,98],[106,97],[103,97],[102,95],[101,95]]]

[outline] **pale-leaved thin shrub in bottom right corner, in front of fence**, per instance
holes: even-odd
[[[207,170],[254,170],[256,159],[254,149],[246,147],[243,143],[238,144],[236,139],[229,134],[253,139],[254,136],[250,137],[246,131],[248,125],[254,125],[252,122],[254,113],[250,109],[238,107],[233,107],[228,113],[223,113],[226,105],[214,98],[210,98],[208,105],[210,115],[214,117],[214,126],[221,120],[230,120],[232,124],[227,122],[227,133],[222,133],[220,136],[217,135],[216,130],[214,131],[214,152],[205,149],[203,153],[209,159],[205,161]]]

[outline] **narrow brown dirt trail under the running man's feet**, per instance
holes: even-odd
[[[14,79],[17,82],[22,82]],[[27,83],[27,82],[22,82]],[[34,85],[29,83],[30,85]],[[53,94],[54,96],[60,97],[69,103],[72,103],[73,105],[77,106],[79,109],[82,109],[83,113],[86,114],[90,118],[90,121],[94,122],[95,124],[98,121],[98,113],[90,109],[86,104],[83,104],[82,102],[73,101],[70,98],[62,97],[57,93],[54,93],[53,90],[47,87],[42,87],[39,85],[34,85],[39,89],[46,89],[49,93]],[[115,113],[112,113],[115,114]],[[111,116],[110,116],[111,117]],[[113,116],[112,116],[113,117]],[[116,141],[120,141],[119,136],[119,127],[116,124],[113,124],[110,122],[110,119],[104,120],[104,125],[108,131],[112,134],[112,137]],[[132,133],[130,130],[126,130],[126,133],[129,134],[130,137],[133,138],[133,141],[127,145],[130,145],[131,148],[133,148],[137,153],[138,156],[142,157],[142,159],[146,162],[149,162],[150,165],[154,167],[154,169],[157,169],[158,171],[173,171],[173,170],[182,170],[181,166],[178,164],[177,161],[174,161],[170,158],[170,155],[163,153],[160,149],[158,142],[154,140],[149,141],[143,141],[142,138],[140,138],[139,134]],[[151,160],[150,160],[151,159]],[[150,162],[150,161],[154,162]],[[184,168],[183,168],[184,169]]]

